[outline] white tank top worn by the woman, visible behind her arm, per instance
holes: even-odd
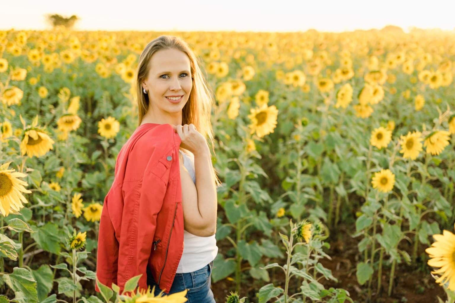
[[[182,152],[182,150],[180,152],[183,156],[183,165],[190,173],[193,182],[196,183],[196,172],[191,157]],[[201,269],[212,262],[217,253],[218,247],[215,235],[198,237],[183,230],[183,253],[176,273],[191,273]]]

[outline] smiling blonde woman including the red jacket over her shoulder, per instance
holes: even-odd
[[[213,303],[221,183],[205,138],[213,146],[214,100],[187,43],[168,35],[151,41],[139,58],[136,93],[139,126],[117,156],[103,204],[97,280],[123,291],[142,274],[140,290],[187,289],[188,302]]]

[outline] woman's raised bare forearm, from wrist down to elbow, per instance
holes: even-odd
[[[194,154],[197,208],[204,225],[215,233],[217,226],[217,189],[212,173],[212,157],[206,145]]]

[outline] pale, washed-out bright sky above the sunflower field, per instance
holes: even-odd
[[[454,11],[454,0],[5,0],[0,30],[49,29],[49,13],[77,15],[76,30],[455,30]]]

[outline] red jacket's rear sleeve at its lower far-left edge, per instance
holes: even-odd
[[[118,249],[119,243],[115,236],[115,229],[109,216],[106,197],[101,211],[100,230],[98,232],[96,278],[109,288],[112,287],[112,283],[117,284]],[[100,292],[96,282],[95,290]]]

